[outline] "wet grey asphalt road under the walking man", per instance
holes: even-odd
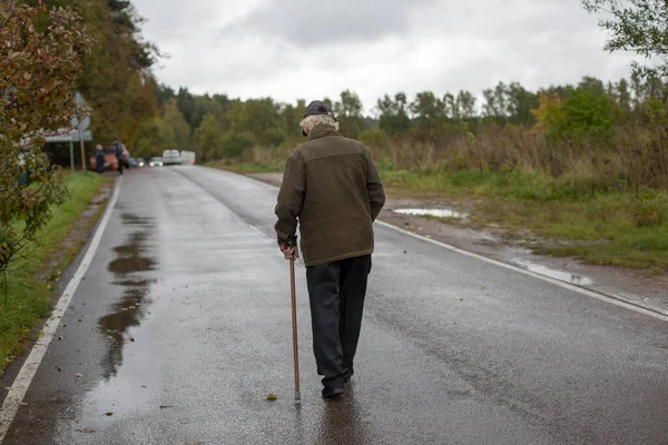
[[[384,227],[337,402],[297,268],[295,404],[276,191],[128,171],[3,444],[668,444],[668,324]]]

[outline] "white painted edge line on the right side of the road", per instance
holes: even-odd
[[[659,314],[659,313],[654,312],[654,310],[646,309],[646,308],[644,308],[641,306],[636,306],[633,304],[626,303],[626,301],[612,298],[610,296],[597,293],[595,290],[584,289],[582,287],[574,286],[574,285],[571,285],[569,283],[564,283],[564,281],[561,281],[561,280],[558,280],[558,279],[554,279],[554,278],[546,277],[544,275],[540,275],[540,274],[537,274],[537,273],[531,271],[531,270],[522,269],[521,267],[518,267],[518,266],[514,266],[514,265],[511,265],[511,264],[508,264],[508,263],[499,261],[497,259],[488,258],[488,257],[484,257],[482,255],[474,254],[472,251],[463,250],[463,249],[460,249],[459,247],[451,246],[451,245],[449,245],[446,243],[438,241],[435,239],[428,238],[425,236],[413,234],[412,231],[404,230],[404,229],[402,229],[400,227],[391,225],[390,222],[385,222],[385,221],[381,221],[381,220],[376,219],[375,224],[377,224],[380,226],[383,226],[385,228],[392,229],[394,231],[397,231],[400,234],[403,234],[403,235],[411,236],[413,238],[420,239],[422,241],[431,243],[431,244],[433,244],[435,246],[445,248],[448,250],[451,250],[451,251],[454,251],[454,253],[458,253],[458,254],[461,254],[461,255],[465,255],[468,257],[475,258],[475,259],[485,261],[488,264],[492,264],[494,266],[503,267],[505,269],[513,270],[513,271],[517,271],[517,273],[520,273],[520,274],[523,274],[523,275],[527,275],[527,276],[530,276],[530,277],[533,277],[533,278],[538,278],[538,279],[540,279],[542,281],[550,283],[552,285],[557,285],[557,286],[562,287],[564,289],[568,289],[568,290],[571,290],[571,291],[574,291],[574,293],[578,293],[578,294],[581,294],[581,295],[584,295],[584,296],[588,296],[588,297],[591,297],[591,298],[596,298],[596,299],[599,299],[601,301],[612,304],[615,306],[623,307],[626,309],[633,310],[633,312],[642,314],[642,315],[648,315],[648,316],[657,318],[657,319],[659,319],[661,322],[668,323],[668,316],[666,316],[664,314]]]

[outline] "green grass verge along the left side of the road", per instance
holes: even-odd
[[[60,271],[72,260],[80,245],[71,247],[52,269],[49,260],[57,250],[65,248],[65,238],[106,181],[109,179],[92,172],[67,176],[69,199],[53,207],[52,218],[41,231],[39,245],[30,248],[28,258],[10,265],[7,298],[4,289],[0,289],[0,369],[21,354],[22,342],[51,309],[53,283],[40,280],[36,274],[46,273],[51,280],[60,277]]]

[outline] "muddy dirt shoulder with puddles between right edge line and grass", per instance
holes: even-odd
[[[246,176],[281,186],[282,174]],[[541,275],[596,290],[615,298],[668,315],[668,274],[656,275],[644,269],[583,264],[573,258],[534,255],[502,228],[472,227],[466,218],[431,218],[399,214],[400,209],[452,209],[465,214],[473,201],[394,197],[389,192],[380,220],[449,244],[460,249],[512,264]]]

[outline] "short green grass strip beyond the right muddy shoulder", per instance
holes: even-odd
[[[435,172],[380,165],[390,195],[474,200],[471,220],[543,241],[539,254],[592,264],[668,268],[668,192],[638,196],[588,178],[554,179],[532,171]]]

